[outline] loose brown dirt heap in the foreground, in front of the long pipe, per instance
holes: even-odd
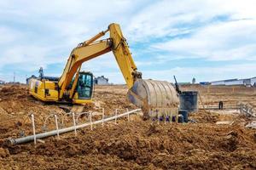
[[[38,144],[37,147],[33,144],[10,147],[11,156],[5,160],[16,160],[25,155],[28,156],[26,161],[33,162],[41,157],[47,162],[45,169],[56,166],[55,161],[48,160],[49,157],[66,160],[63,161],[66,168],[107,168],[113,165],[114,168],[153,169],[256,168],[254,138],[253,131],[239,126],[120,122],[93,131],[84,129],[79,131],[77,138],[70,134],[61,139],[47,139],[47,144]],[[102,158],[108,161],[102,163]],[[20,167],[22,162],[18,159],[15,165]]]

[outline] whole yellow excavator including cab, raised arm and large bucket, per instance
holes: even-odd
[[[109,32],[107,39],[101,37]],[[101,39],[100,39],[101,38]],[[32,78],[29,92],[36,99],[45,102],[86,105],[93,102],[93,75],[80,71],[84,62],[113,52],[119,69],[128,87],[128,99],[143,109],[146,116],[155,113],[177,114],[178,98],[176,89],[170,82],[145,80],[137,70],[125,37],[118,24],[110,24],[89,40],[73,48],[60,78]]]

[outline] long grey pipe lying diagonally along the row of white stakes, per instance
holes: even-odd
[[[141,109],[136,109],[136,110],[133,110],[133,111],[127,111],[127,112],[119,114],[117,116],[111,116],[111,117],[105,118],[103,120],[92,122],[92,124],[99,124],[99,123],[102,123],[102,122],[113,121],[115,118],[119,118],[119,117],[122,117],[122,116],[127,116],[127,115],[129,115],[131,113],[135,113],[137,111],[141,111]],[[68,132],[74,131],[74,129],[79,129],[79,128],[87,127],[87,126],[90,126],[90,125],[91,125],[90,122],[86,122],[84,124],[73,126],[73,127],[61,128],[59,130],[53,130],[53,131],[49,131],[49,132],[46,132],[46,133],[38,133],[38,134],[36,134],[36,139],[44,139],[44,138],[47,138],[49,136],[54,136],[57,133],[59,133],[59,134],[68,133]],[[26,136],[26,137],[22,137],[22,138],[18,138],[18,139],[7,139],[6,142],[8,144],[14,145],[14,144],[23,144],[23,143],[31,142],[32,140],[34,140],[34,135]]]

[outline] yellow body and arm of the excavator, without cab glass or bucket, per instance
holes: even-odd
[[[109,31],[109,38],[98,40]],[[90,40],[79,43],[79,46],[73,48],[67,64],[58,82],[46,79],[32,79],[29,82],[30,94],[43,101],[67,102],[73,104],[91,103],[90,99],[79,99],[76,92],[79,79],[79,70],[81,65],[90,59],[94,59],[102,54],[112,51],[119,65],[119,69],[125,78],[128,88],[131,88],[142,74],[137,71],[128,44],[122,34],[118,24],[111,24],[107,31],[102,31]],[[72,87],[70,88],[70,84]],[[90,88],[93,88],[92,86]]]

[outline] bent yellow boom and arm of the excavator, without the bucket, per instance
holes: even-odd
[[[110,38],[96,41],[108,31]],[[111,24],[108,26],[107,31],[102,31],[95,37],[90,38],[90,40],[79,43],[77,48],[73,48],[58,82],[58,86],[61,89],[60,98],[62,98],[74,75],[79,74],[79,68],[85,61],[110,51],[113,51],[128,88],[131,88],[138,78],[142,78],[142,73],[137,71],[137,66],[131,57],[131,52],[119,25]],[[77,81],[77,78],[78,76],[75,77],[74,82]],[[75,85],[76,83],[73,83],[71,94],[73,94]]]

